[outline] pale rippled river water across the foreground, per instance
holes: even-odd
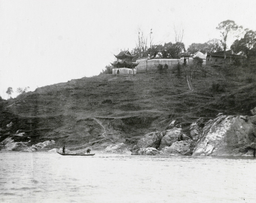
[[[256,159],[0,153],[0,202],[255,202]]]

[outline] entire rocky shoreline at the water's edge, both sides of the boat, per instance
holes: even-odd
[[[253,116],[227,116],[219,113],[215,119],[208,121],[200,118],[189,126],[189,133],[184,133],[181,126],[173,121],[165,131],[145,134],[134,146],[119,143],[108,146],[105,152],[131,155],[253,156],[256,150],[256,108],[251,113]],[[14,138],[26,142],[15,142]],[[54,140],[29,146],[29,139],[26,133],[17,131],[12,137],[0,142],[0,151],[60,150],[56,148]]]

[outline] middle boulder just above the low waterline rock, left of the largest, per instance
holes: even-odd
[[[171,146],[174,142],[189,140],[190,138],[182,133],[181,130],[181,128],[173,128],[171,130],[163,131],[163,138],[161,139],[159,150]]]

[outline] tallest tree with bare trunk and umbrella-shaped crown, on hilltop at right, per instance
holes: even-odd
[[[242,26],[238,26],[233,20],[225,20],[219,23],[216,29],[221,32],[221,44],[224,49],[224,59],[226,59],[227,37],[242,29]]]

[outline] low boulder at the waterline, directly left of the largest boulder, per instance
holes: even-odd
[[[160,154],[172,155],[172,156],[177,156],[177,155],[190,156],[195,147],[194,143],[195,142],[193,142],[192,140],[174,142],[172,146],[164,147],[160,151]]]

